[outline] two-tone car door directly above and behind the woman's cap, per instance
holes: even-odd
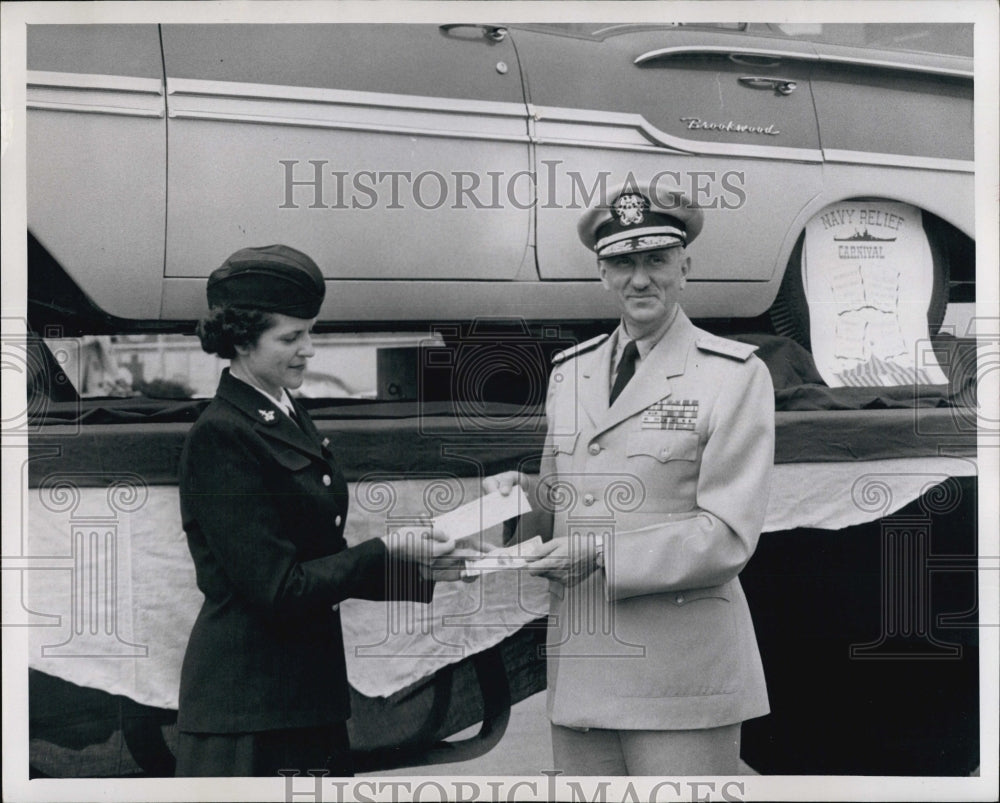
[[[510,40],[479,25],[164,25],[164,314],[232,251],[284,242],[325,320],[433,318],[443,294],[533,273],[525,105]],[[492,174],[492,175],[489,175]],[[499,179],[497,178],[499,177]],[[414,281],[419,280],[419,281]]]

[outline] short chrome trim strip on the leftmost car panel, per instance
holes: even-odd
[[[30,70],[25,107],[48,111],[163,117],[163,84],[156,78]]]

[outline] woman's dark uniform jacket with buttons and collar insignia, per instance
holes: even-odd
[[[226,370],[188,435],[181,518],[205,601],[181,671],[183,731],[347,719],[338,603],[431,597],[381,539],[348,548],[347,483],[296,409],[301,427]]]

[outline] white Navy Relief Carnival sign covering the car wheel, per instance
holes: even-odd
[[[947,383],[929,347],[934,262],[919,209],[888,201],[826,207],[806,226],[802,283],[827,385]]]

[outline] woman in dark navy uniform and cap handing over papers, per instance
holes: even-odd
[[[282,245],[237,251],[208,280],[198,334],[228,358],[181,456],[181,517],[205,601],[181,672],[177,774],[350,775],[341,600],[430,601],[442,533],[348,547],[347,483],[302,384],[323,277]]]

